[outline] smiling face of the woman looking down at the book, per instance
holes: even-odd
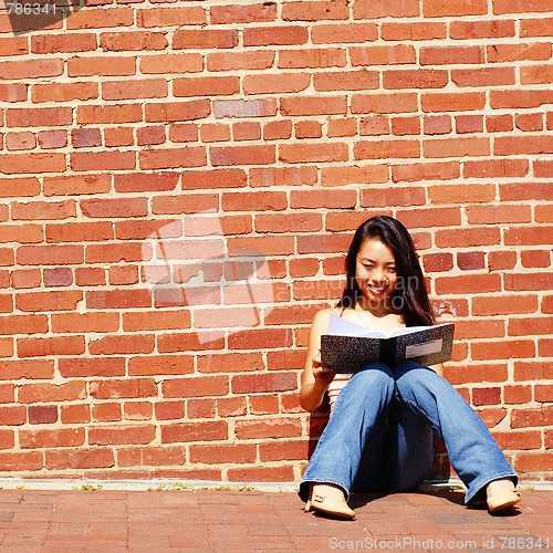
[[[397,285],[396,260],[392,249],[377,238],[367,238],[357,252],[355,279],[371,311],[392,311]]]

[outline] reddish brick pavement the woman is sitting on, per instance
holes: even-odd
[[[459,491],[356,495],[357,519],[304,513],[293,492],[0,490],[0,551],[156,553],[539,551],[553,547],[553,491],[523,490],[508,517]]]

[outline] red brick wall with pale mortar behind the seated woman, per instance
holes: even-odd
[[[0,474],[299,480],[309,323],[390,213],[551,479],[551,1],[87,3],[0,12]]]

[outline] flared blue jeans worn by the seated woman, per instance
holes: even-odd
[[[354,374],[336,398],[333,414],[300,484],[349,491],[408,491],[432,468],[434,434],[467,487],[465,502],[492,480],[517,473],[488,427],[459,393],[434,371],[407,361],[390,369],[371,363]]]

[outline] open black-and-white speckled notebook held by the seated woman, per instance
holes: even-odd
[[[355,373],[371,362],[395,367],[405,359],[428,366],[451,358],[453,323],[407,326],[389,335],[331,315],[321,336],[322,366],[336,373]]]

